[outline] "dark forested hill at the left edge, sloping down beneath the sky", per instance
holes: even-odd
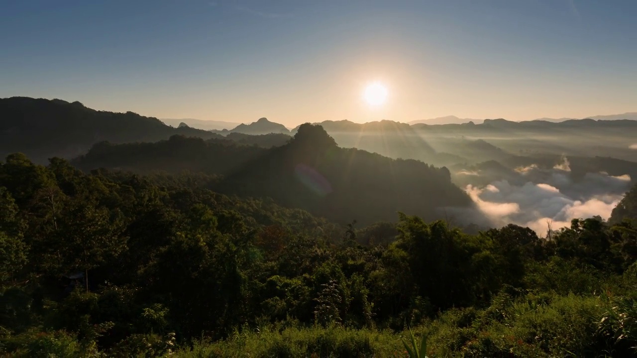
[[[60,99],[11,97],[0,99],[0,156],[23,152],[32,161],[84,154],[99,141],[128,143],[159,141],[175,134],[220,138],[190,127],[173,128],[136,113],[96,111],[82,103]]]

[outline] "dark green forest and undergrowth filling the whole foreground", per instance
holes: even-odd
[[[334,143],[320,131],[303,127],[290,146],[318,146],[328,160]],[[436,357],[637,353],[633,214],[575,219],[550,240],[402,213],[339,226],[218,194],[204,176],[6,157],[1,352],[406,357],[412,327]]]

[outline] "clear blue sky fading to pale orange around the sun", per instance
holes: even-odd
[[[0,97],[288,126],[623,113],[636,18],[636,0],[4,0]]]

